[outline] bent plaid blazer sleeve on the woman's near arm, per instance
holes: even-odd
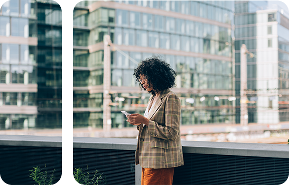
[[[163,102],[164,103],[164,102]],[[172,93],[165,100],[164,126],[150,120],[148,134],[152,137],[174,140],[180,132],[181,102],[179,97]]]

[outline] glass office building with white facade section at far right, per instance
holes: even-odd
[[[289,14],[267,0],[235,0],[236,96],[240,90],[240,46],[247,57],[248,119],[255,123],[288,120]],[[240,121],[236,100],[236,122]]]

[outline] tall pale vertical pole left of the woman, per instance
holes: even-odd
[[[103,129],[109,131],[111,129],[111,116],[110,116],[110,36],[104,37],[104,117],[103,117]]]

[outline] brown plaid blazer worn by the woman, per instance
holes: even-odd
[[[153,97],[150,97],[149,102]],[[149,126],[137,126],[136,165],[155,169],[184,165],[180,117],[179,97],[169,89],[160,92],[149,112]]]

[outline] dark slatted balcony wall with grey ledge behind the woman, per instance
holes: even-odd
[[[31,185],[33,166],[54,172],[53,185],[72,185],[71,171],[88,165],[107,185],[140,185],[136,139],[0,135],[0,185]],[[184,166],[175,185],[289,185],[289,146],[182,141]]]

